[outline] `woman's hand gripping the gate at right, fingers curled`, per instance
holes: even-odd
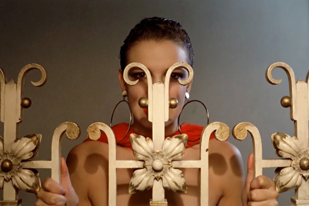
[[[248,170],[242,192],[243,206],[278,206],[275,183],[264,175],[253,177],[253,153],[248,157]]]

